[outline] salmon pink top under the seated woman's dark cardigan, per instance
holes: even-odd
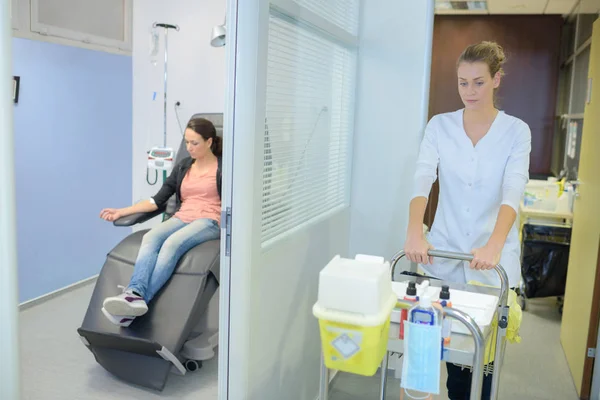
[[[181,207],[174,215],[185,223],[200,218],[208,218],[221,223],[221,199],[217,191],[217,166],[209,168],[204,174],[192,176],[190,168],[181,183]]]

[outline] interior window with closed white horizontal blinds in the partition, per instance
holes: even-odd
[[[348,205],[356,81],[355,46],[279,9],[271,9],[268,35],[263,247]]]

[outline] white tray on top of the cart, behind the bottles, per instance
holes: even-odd
[[[406,294],[408,282],[392,282],[392,288],[398,299],[403,299]],[[421,285],[417,285],[417,296],[423,296],[424,292],[432,301],[438,301],[441,288],[427,286],[425,290]],[[498,297],[489,294],[473,293],[464,290],[450,289],[450,302],[452,308],[463,311],[475,320],[479,328],[483,331],[491,325],[492,318],[498,305]],[[392,322],[400,323],[400,310],[394,310],[392,313]],[[459,321],[452,322],[452,332],[470,335],[471,332]]]

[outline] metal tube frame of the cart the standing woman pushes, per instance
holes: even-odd
[[[439,258],[447,258],[453,260],[461,260],[461,261],[472,261],[473,256],[471,254],[462,254],[462,253],[454,253],[447,251],[437,251],[430,250],[429,255],[432,257]],[[396,268],[396,264],[398,261],[405,256],[404,251],[398,252],[391,261],[391,274],[392,281],[394,280],[394,272]],[[485,293],[485,294],[493,294],[497,296],[497,325],[492,328],[492,325],[487,326],[484,329],[484,332],[481,331],[479,325],[475,322],[475,320],[465,312],[445,307],[444,313],[466,326],[466,328],[471,333],[473,340],[470,340],[468,336],[461,334],[453,334],[450,345],[445,346],[444,348],[444,357],[443,361],[464,365],[466,367],[471,367],[473,371],[473,379],[471,380],[471,400],[480,400],[481,392],[483,387],[483,375],[484,371],[488,367],[484,367],[484,351],[486,346],[486,339],[493,338],[496,336],[496,345],[493,347],[494,353],[494,365],[493,365],[493,378],[492,378],[492,388],[491,388],[491,400],[498,399],[498,387],[500,382],[500,373],[502,369],[502,361],[504,358],[504,350],[506,345],[506,328],[508,326],[508,275],[506,271],[500,264],[495,267],[495,271],[498,273],[500,277],[500,290],[497,288],[490,288],[484,286],[474,286],[467,284],[454,284],[451,282],[443,282],[444,284],[450,285],[451,289],[465,290],[465,291],[474,291],[477,293]],[[414,279],[410,277],[406,277],[403,279]],[[442,281],[436,281],[434,279],[430,280],[430,284],[432,286],[439,285],[441,286]],[[398,300],[396,307],[397,308],[409,308],[414,303]],[[490,336],[491,335],[491,336]],[[490,351],[492,346],[490,346]],[[381,386],[379,399],[385,400],[386,396],[386,384],[387,384],[387,370],[388,370],[388,358],[390,352],[393,353],[403,353],[403,343],[402,340],[390,335],[387,344],[386,355],[383,357],[383,361],[381,363]],[[320,400],[329,400],[329,381],[330,374],[329,369],[325,365],[325,358],[323,353],[321,354],[321,380],[319,386],[319,399]],[[490,371],[491,372],[491,371]]]

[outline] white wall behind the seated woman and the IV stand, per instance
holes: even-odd
[[[225,19],[225,0],[135,0],[133,4],[133,202],[152,196],[146,183],[147,151],[163,144],[164,30],[160,29],[158,62],[150,62],[150,30],[154,22],[179,25],[169,30],[167,145],[177,149],[181,131],[174,104],[181,102],[181,124],[199,112],[223,112],[225,49],[210,46],[215,25]],[[153,93],[156,98],[153,100]],[[150,181],[154,180],[154,173]],[[142,229],[158,218],[136,227]]]

